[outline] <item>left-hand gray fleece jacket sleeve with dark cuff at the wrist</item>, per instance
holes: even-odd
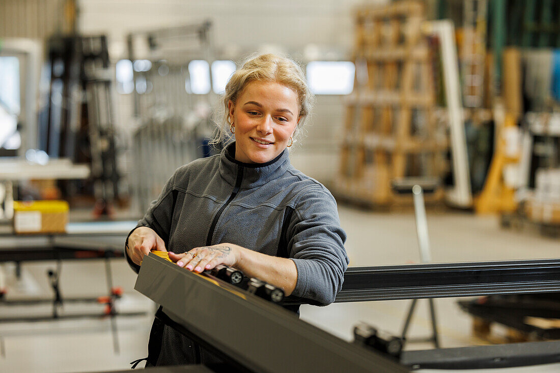
[[[128,256],[127,249],[126,249],[128,237],[130,237],[130,234],[132,234],[132,232],[134,232],[136,228],[139,228],[141,226],[147,226],[148,228],[155,230],[157,235],[160,236],[162,240],[164,240],[165,247],[167,248],[167,246],[169,245],[171,219],[175,207],[175,201],[177,198],[177,193],[173,188],[174,181],[175,181],[175,174],[176,173],[174,173],[173,176],[171,176],[169,180],[167,180],[167,182],[164,185],[164,188],[160,193],[160,196],[157,197],[157,200],[152,201],[150,207],[148,207],[148,211],[146,212],[146,215],[144,215],[144,217],[138,221],[138,225],[136,225],[136,227],[134,227],[134,229],[130,231],[130,233],[127,236],[127,240],[124,243],[125,244],[124,255],[127,258],[128,264],[130,265],[130,267],[132,267],[132,269],[136,273],[140,271],[140,266],[134,264],[132,259],[130,259]]]

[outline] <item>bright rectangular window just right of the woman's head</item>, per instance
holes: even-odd
[[[307,64],[307,82],[315,95],[348,95],[354,87],[355,67],[347,61],[314,61]]]

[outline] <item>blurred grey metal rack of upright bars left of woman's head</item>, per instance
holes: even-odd
[[[194,60],[208,66],[212,77],[211,23],[134,32],[128,35],[128,54],[140,124],[133,135],[130,182],[134,209],[143,214],[176,168],[211,153],[211,107],[217,95],[212,89],[193,92],[195,77],[189,73]]]

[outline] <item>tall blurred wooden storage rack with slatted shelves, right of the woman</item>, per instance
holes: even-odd
[[[445,172],[449,141],[434,115],[423,15],[423,4],[409,0],[356,12],[356,79],[333,183],[338,197],[381,207],[412,204],[412,197],[391,189],[392,181]],[[439,187],[427,202],[443,196]]]

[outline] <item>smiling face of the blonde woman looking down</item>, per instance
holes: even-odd
[[[235,128],[235,159],[244,163],[276,158],[290,145],[300,121],[296,92],[276,82],[247,84],[228,108]]]

